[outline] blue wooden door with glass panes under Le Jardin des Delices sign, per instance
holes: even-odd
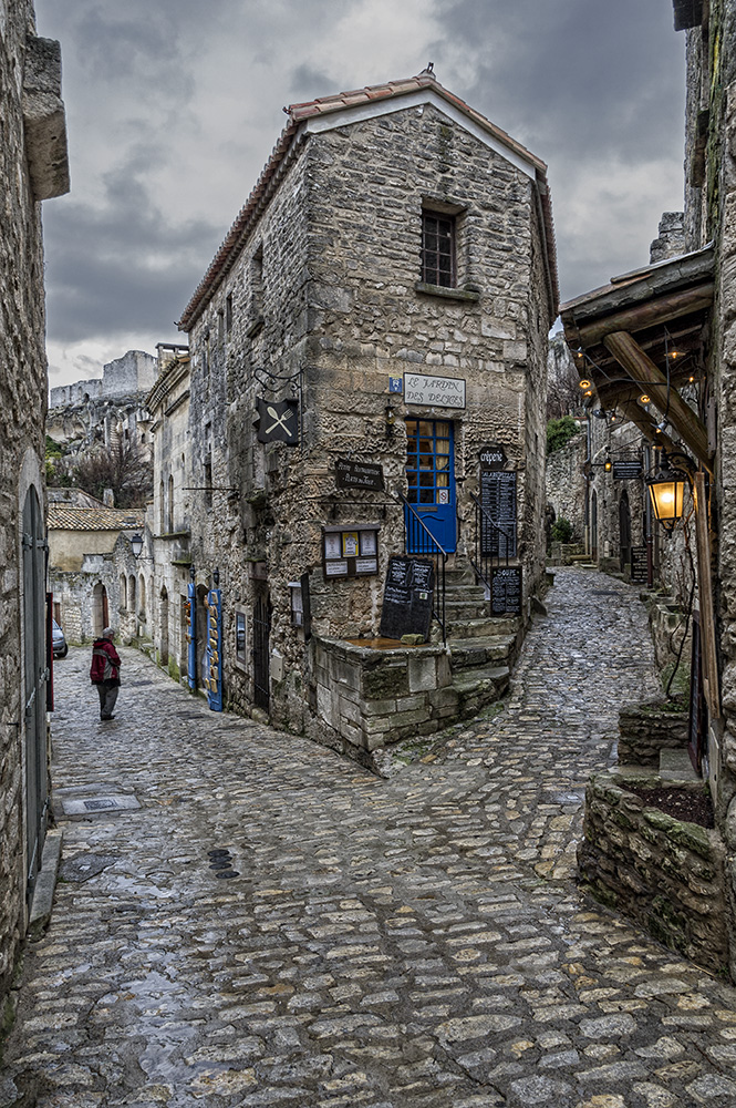
[[[406,500],[443,550],[454,551],[455,456],[449,420],[406,420]],[[407,526],[410,536],[414,532]],[[425,552],[421,540],[410,538],[410,553]]]

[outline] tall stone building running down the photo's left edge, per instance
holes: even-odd
[[[48,804],[41,201],[69,192],[58,42],[0,3],[0,1012],[29,919]]]

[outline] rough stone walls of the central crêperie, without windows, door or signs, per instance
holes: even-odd
[[[235,611],[268,589],[270,648],[288,675],[272,718],[303,711],[311,679],[289,583],[310,573],[315,634],[377,632],[387,558],[403,547],[405,419],[447,419],[388,392],[405,372],[463,378],[452,412],[457,553],[471,542],[479,453],[501,443],[518,473],[525,611],[543,572],[543,392],[550,324],[532,182],[433,105],[309,135],[279,170],[227,279],[190,330],[191,555],[224,588],[225,683],[247,710],[232,660]],[[442,168],[438,168],[442,166]],[[423,205],[457,213],[457,289],[418,286]],[[300,401],[299,447],[256,441],[256,398]],[[381,492],[335,484],[338,458],[380,462]],[[329,579],[323,524],[376,521],[380,574]],[[268,584],[253,566],[266,566]]]

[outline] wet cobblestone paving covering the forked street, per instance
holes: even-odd
[[[736,991],[574,886],[587,777],[657,687],[643,607],[574,568],[549,607],[504,709],[391,780],[133,650],[100,724],[72,650],[62,880],[0,1105],[736,1104]],[[59,808],[111,794],[141,807]]]

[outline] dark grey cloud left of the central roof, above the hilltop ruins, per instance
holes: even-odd
[[[104,206],[69,197],[44,219],[49,334],[62,342],[172,330],[221,237],[173,226],[131,172],[105,183]]]

